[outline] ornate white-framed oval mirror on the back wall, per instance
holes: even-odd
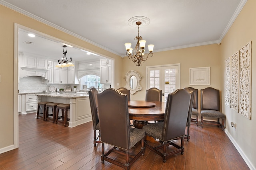
[[[142,87],[140,86],[140,80],[142,76],[134,70],[130,70],[127,72],[124,76],[124,79],[126,80],[126,85],[124,88],[130,90],[130,94],[135,94],[136,92],[142,90]]]

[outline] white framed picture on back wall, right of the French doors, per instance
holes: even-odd
[[[189,68],[189,85],[210,85],[210,67]]]

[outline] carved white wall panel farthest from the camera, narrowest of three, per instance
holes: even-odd
[[[230,57],[225,61],[225,105],[230,106]]]

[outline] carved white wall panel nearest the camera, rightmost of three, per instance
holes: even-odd
[[[240,49],[239,113],[251,119],[251,47],[250,41]]]

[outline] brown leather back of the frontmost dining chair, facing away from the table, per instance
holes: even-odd
[[[127,94],[109,88],[98,93],[97,97],[101,141],[128,150],[130,121]]]

